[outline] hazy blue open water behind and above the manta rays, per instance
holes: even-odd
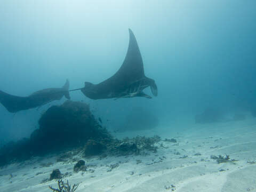
[[[122,65],[131,28],[158,97],[95,101],[70,93],[108,129],[124,126],[138,106],[170,126],[194,123],[207,107],[249,111],[256,106],[255,7],[253,0],[1,1],[0,90],[26,96],[66,78],[70,89],[99,83]],[[41,114],[63,101],[16,114],[0,105],[0,143],[29,137]]]

